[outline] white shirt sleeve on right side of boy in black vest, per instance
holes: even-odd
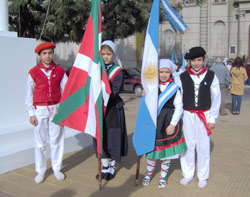
[[[214,80],[211,84],[210,90],[211,90],[211,108],[207,122],[215,124],[216,118],[219,116],[220,113],[220,105],[221,105],[220,83],[216,75],[214,75]]]

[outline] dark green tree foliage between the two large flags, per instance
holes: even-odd
[[[147,22],[152,0],[110,0],[103,3],[103,38],[114,40],[142,32]]]

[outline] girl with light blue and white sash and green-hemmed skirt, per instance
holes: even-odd
[[[176,65],[169,59],[159,60],[159,97],[155,149],[146,154],[147,172],[142,184],[148,185],[152,179],[156,160],[161,161],[159,188],[165,188],[171,159],[176,159],[187,150],[180,120],[182,97],[180,88],[173,79]]]

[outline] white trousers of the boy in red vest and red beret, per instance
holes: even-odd
[[[64,151],[64,128],[52,122],[58,105],[37,106],[35,115],[38,125],[35,127],[35,166],[37,173],[46,171],[46,147],[50,145],[50,157],[53,171],[61,170]]]

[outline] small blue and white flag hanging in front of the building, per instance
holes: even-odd
[[[188,28],[186,23],[182,20],[180,15],[174,10],[167,0],[162,0],[162,7],[168,22],[175,32],[180,33]]]

